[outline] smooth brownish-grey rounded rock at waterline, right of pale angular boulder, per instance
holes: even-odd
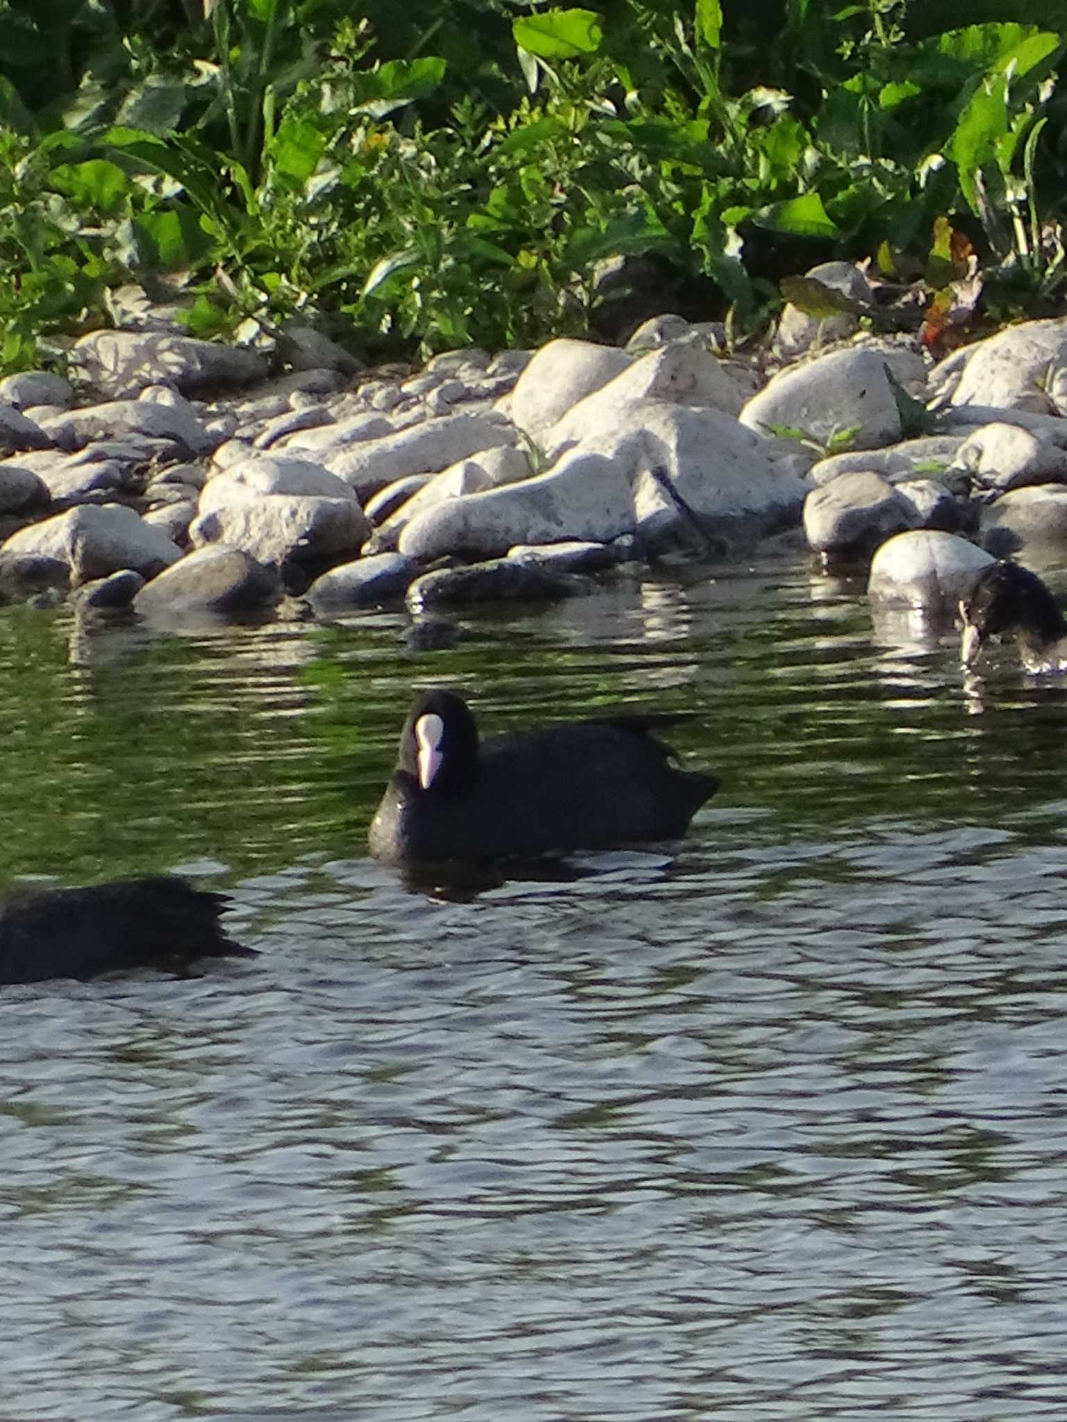
[[[182,621],[196,614],[233,617],[275,607],[282,594],[276,567],[221,545],[186,553],[141,589],[134,607],[154,621]]]

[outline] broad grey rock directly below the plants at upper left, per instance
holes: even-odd
[[[267,361],[259,351],[171,331],[91,331],[74,341],[68,368],[101,394],[121,400],[161,383],[186,395],[250,385],[266,377]]]

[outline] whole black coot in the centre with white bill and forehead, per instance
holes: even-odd
[[[718,788],[649,732],[679,717],[570,721],[478,741],[454,691],[425,691],[404,722],[370,852],[394,865],[491,862],[676,839]]]

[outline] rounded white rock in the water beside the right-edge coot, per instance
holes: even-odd
[[[915,529],[888,539],[874,556],[866,594],[891,607],[956,611],[979,573],[996,562],[955,533]]]

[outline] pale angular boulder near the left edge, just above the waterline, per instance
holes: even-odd
[[[159,529],[117,503],[102,508],[87,503],[13,533],[0,555],[34,553],[65,563],[71,583],[107,577],[132,567],[154,577],[182,555]]]

